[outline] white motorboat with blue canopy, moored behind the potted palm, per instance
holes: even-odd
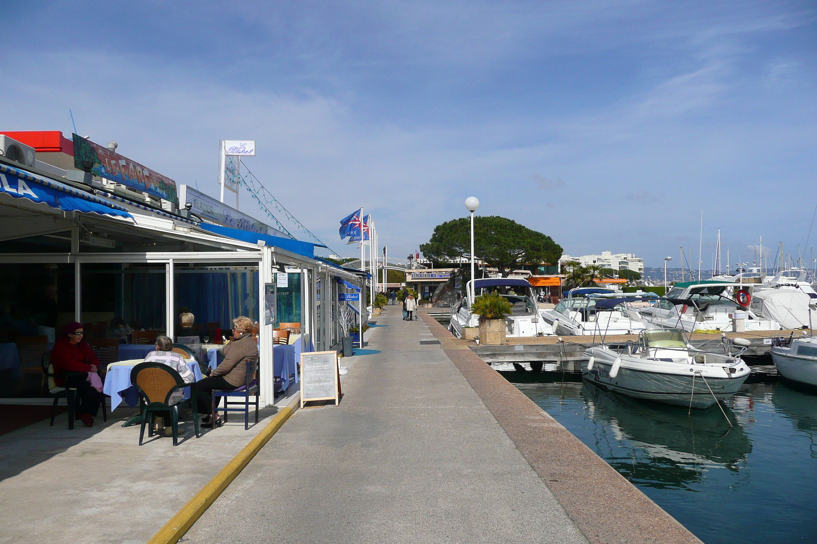
[[[553,334],[553,327],[542,320],[534,286],[519,277],[492,277],[471,280],[466,285],[467,296],[451,307],[449,330],[462,338],[463,327],[480,326],[480,316],[471,313],[471,299],[486,292],[502,294],[513,306],[505,318],[505,334],[509,337],[545,336]]]

